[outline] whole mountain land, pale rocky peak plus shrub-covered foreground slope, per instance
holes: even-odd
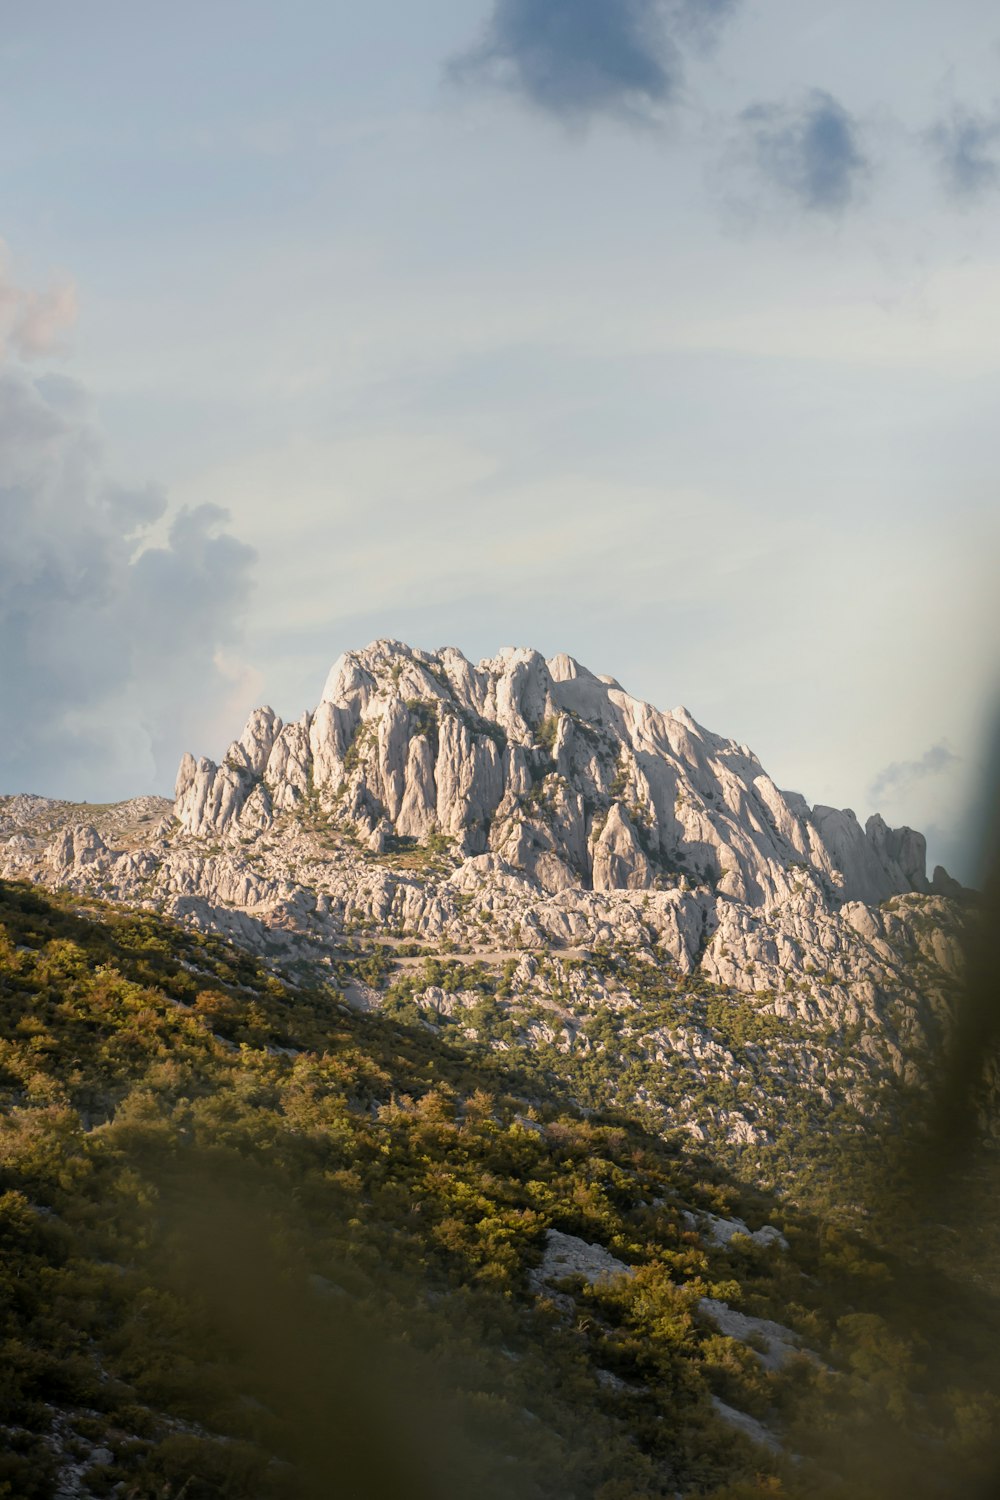
[[[913,1150],[975,909],[532,651],[1,798],[0,1494],[981,1492],[996,1170]]]

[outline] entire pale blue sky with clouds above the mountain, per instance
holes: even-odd
[[[973,878],[1000,16],[4,0],[0,792],[568,651]]]

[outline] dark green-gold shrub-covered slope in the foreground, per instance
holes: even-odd
[[[504,974],[426,964],[414,984],[472,987],[489,1024]],[[394,1000],[357,1016],[148,914],[0,885],[0,1496],[51,1496],[69,1464],[82,1494],[150,1500],[978,1482],[982,1288]],[[705,1214],[789,1250],[714,1248]],[[550,1228],[633,1274],[541,1287]],[[813,1353],[765,1368],[703,1298]]]

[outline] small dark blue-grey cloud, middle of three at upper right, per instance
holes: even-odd
[[[822,88],[798,108],[759,104],[744,110],[757,166],[804,208],[838,213],[868,171],[858,123]]]

